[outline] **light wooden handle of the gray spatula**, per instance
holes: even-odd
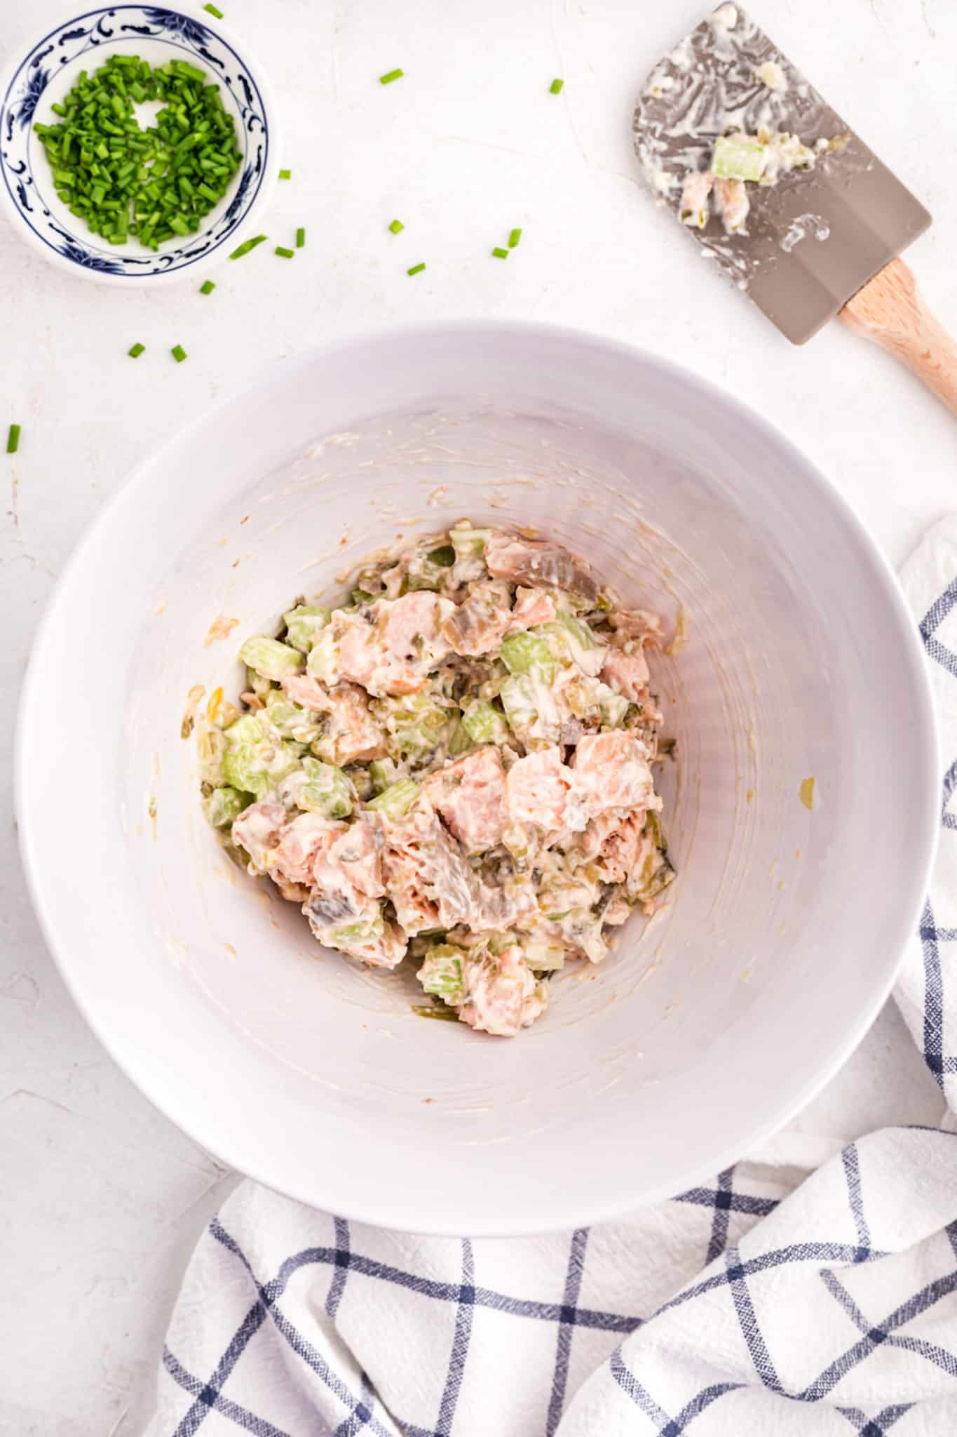
[[[891,260],[868,280],[841,319],[905,364],[957,415],[957,343],[925,308],[904,260]]]

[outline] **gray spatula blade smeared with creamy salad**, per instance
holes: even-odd
[[[769,88],[759,70],[773,62]],[[931,217],[803,75],[735,4],[722,4],[649,76],[634,148],[656,197],[679,211],[689,171],[707,170],[715,139],[759,125],[832,148],[809,171],[748,184],[746,234],[717,216],[682,226],[788,339],[801,345],[915,240]]]

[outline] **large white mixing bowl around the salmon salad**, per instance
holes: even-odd
[[[515,1040],[320,950],[218,848],[181,739],[296,595],[461,516],[537,525],[686,635],[656,671],[677,882]],[[620,1216],[785,1122],[887,997],[937,810],[914,625],[834,489],[660,359],[471,322],[319,349],[139,468],[47,611],[17,780],[50,948],[164,1112],[307,1203],[473,1234]]]

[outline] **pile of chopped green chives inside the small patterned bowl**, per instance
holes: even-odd
[[[133,106],[145,101],[159,108],[141,128]],[[53,114],[56,124],[33,129],[55,188],[108,244],[135,237],[158,250],[198,234],[242,162],[218,83],[182,59],[152,66],[112,55],[98,70],[82,70]]]

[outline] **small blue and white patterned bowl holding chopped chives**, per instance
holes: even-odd
[[[212,24],[208,22],[214,22]],[[220,85],[242,152],[232,184],[205,217],[204,228],[148,250],[131,237],[108,244],[70,214],[53,187],[34,122],[55,124],[50,106],[73,88],[80,70],[110,55],[139,55],[149,65],[188,60]],[[148,4],[85,10],[14,55],[0,80],[0,194],[14,228],[53,264],[102,282],[154,286],[187,279],[197,263],[224,259],[253,233],[270,201],[281,164],[273,92],[245,47],[227,37],[207,11]]]

